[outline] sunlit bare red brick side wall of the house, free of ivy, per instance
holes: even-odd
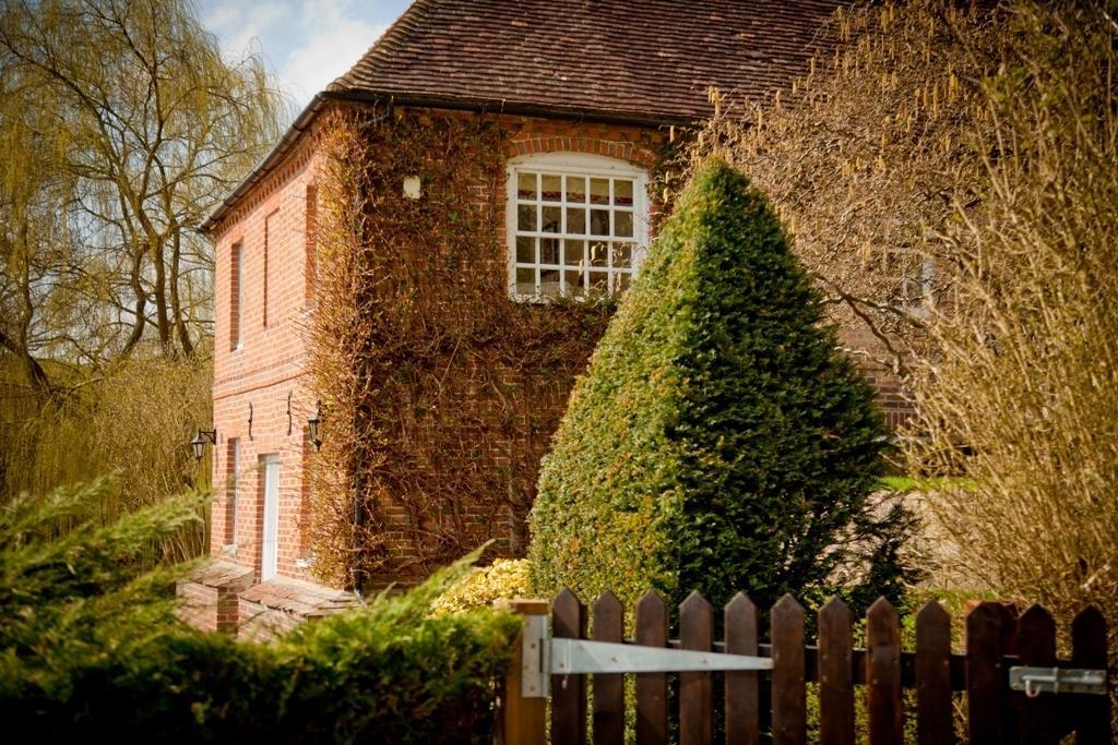
[[[259,576],[263,529],[262,456],[280,457],[278,571],[307,576],[309,557],[299,532],[306,491],[302,469],[307,455],[306,419],[314,398],[306,385],[306,329],[312,322],[309,275],[313,267],[313,142],[274,172],[216,230],[215,337],[231,340],[235,303],[233,247],[241,251],[240,344],[216,345],[214,360],[214,448],[217,502],[211,545],[219,554],[234,543],[228,561]],[[288,416],[290,412],[290,416]],[[240,442],[236,514],[228,494],[229,440]]]

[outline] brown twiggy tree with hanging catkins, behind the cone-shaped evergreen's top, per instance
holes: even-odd
[[[852,352],[903,371],[927,346],[929,307],[954,257],[936,235],[969,202],[975,118],[996,25],[988,12],[917,0],[840,13],[790,95],[718,107],[691,165],[729,161],[769,197]],[[973,48],[958,44],[965,35]],[[686,172],[684,170],[684,178]]]

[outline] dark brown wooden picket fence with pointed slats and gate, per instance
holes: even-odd
[[[556,638],[771,658],[770,671],[636,674],[635,737],[641,745],[667,743],[670,737],[681,745],[709,745],[718,722],[728,744],[806,743],[807,684],[818,684],[817,736],[827,744],[853,745],[859,728],[871,745],[903,743],[906,717],[913,716],[921,745],[958,742],[957,717],[963,717],[963,738],[970,743],[1054,745],[1070,733],[1080,744],[1111,742],[1108,695],[1026,697],[1008,684],[1014,666],[1107,669],[1107,628],[1093,608],[1076,617],[1071,658],[1059,659],[1055,624],[1038,605],[1020,618],[1001,603],[978,605],[965,619],[965,653],[953,653],[951,619],[935,601],[917,613],[912,651],[903,649],[898,612],[884,599],[866,613],[865,648],[854,646],[854,614],[837,599],[818,611],[815,644],[806,639],[805,612],[792,595],[773,606],[767,643],[759,633],[757,608],[742,594],[722,611],[722,640],[714,639],[714,609],[699,593],[679,608],[679,639],[669,639],[669,609],[652,591],[636,604],[633,639],[624,639],[624,609],[610,592],[594,603],[589,636],[586,608],[570,591],[550,605]],[[511,606],[529,617],[549,610],[546,601],[513,601]],[[518,647],[518,660],[521,651]],[[591,735],[595,744],[625,742],[623,675],[552,676],[550,733],[547,699],[522,698],[520,676],[514,665],[502,689],[499,742],[574,745]],[[716,678],[722,679],[720,700]],[[904,689],[916,691],[908,697],[913,710],[906,710]],[[958,697],[965,699],[961,707],[956,706],[956,691],[965,694]],[[855,719],[859,695],[865,700],[861,722]]]

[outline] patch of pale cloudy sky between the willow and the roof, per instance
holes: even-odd
[[[360,59],[410,0],[198,0],[229,59],[258,51],[302,109]]]

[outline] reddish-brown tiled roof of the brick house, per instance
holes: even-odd
[[[651,120],[806,69],[839,0],[416,0],[328,88]]]

